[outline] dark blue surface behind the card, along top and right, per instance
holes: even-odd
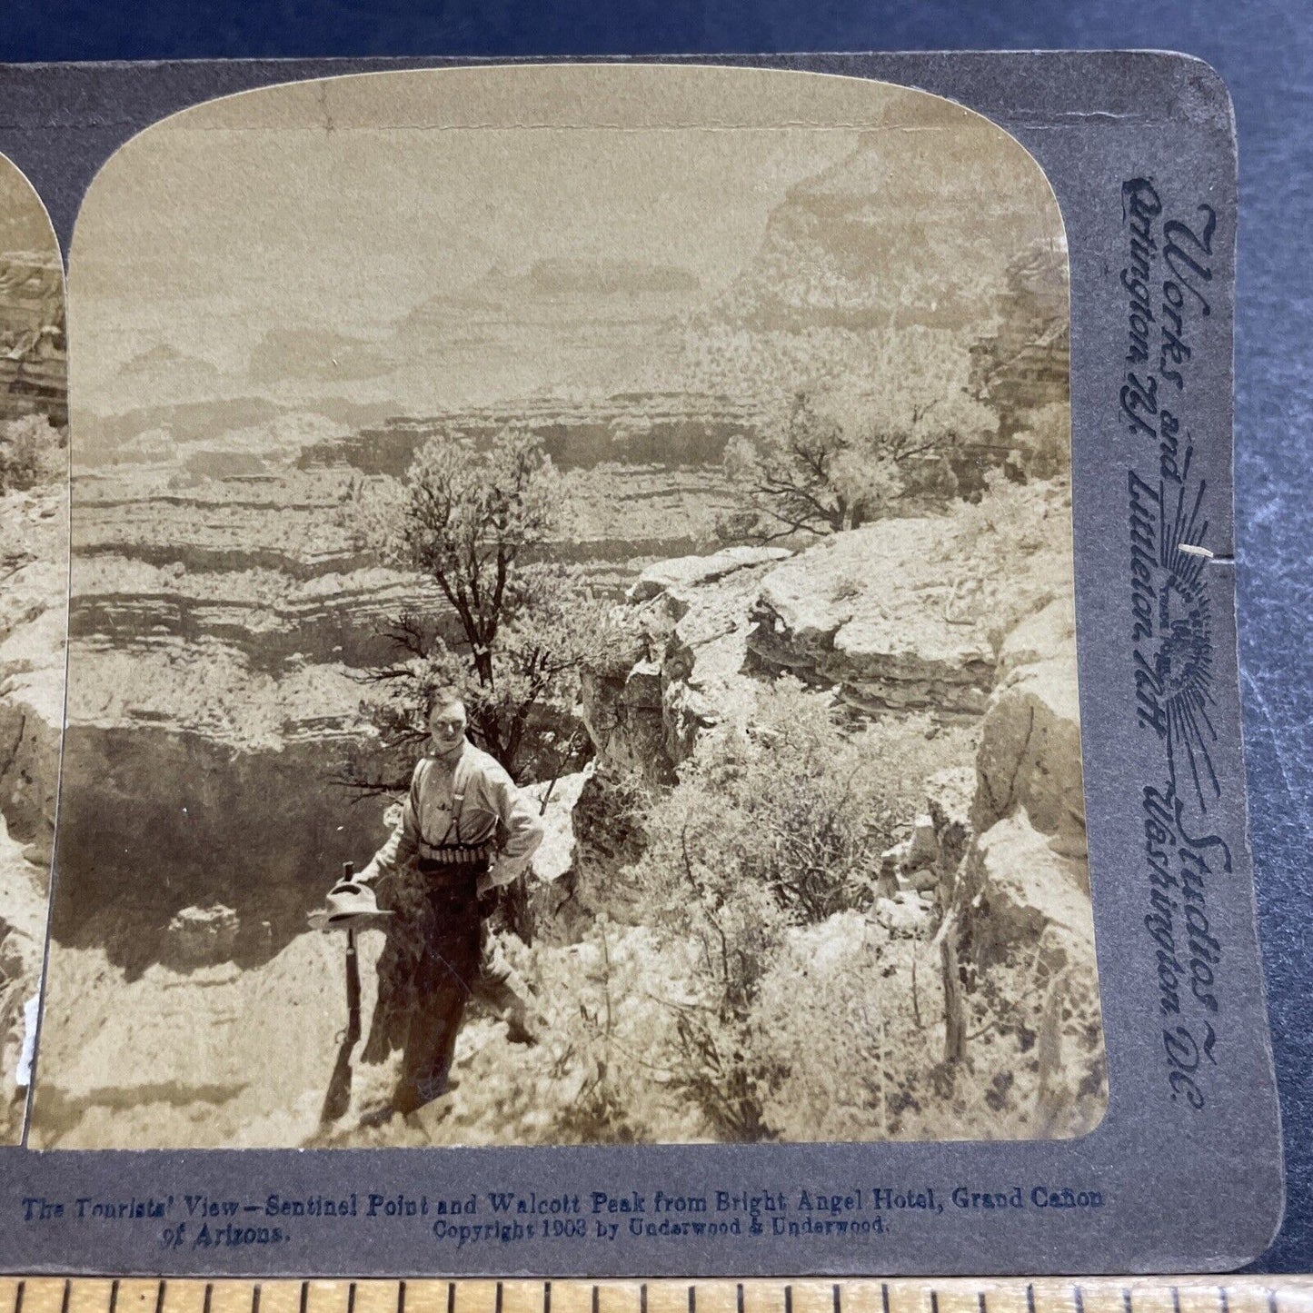
[[[1287,1145],[1260,1264],[1313,1268],[1313,5],[1308,0],[110,0],[4,5],[0,59],[1183,50],[1236,102],[1236,499],[1254,863]],[[1217,1182],[1225,1192],[1226,1182]]]

